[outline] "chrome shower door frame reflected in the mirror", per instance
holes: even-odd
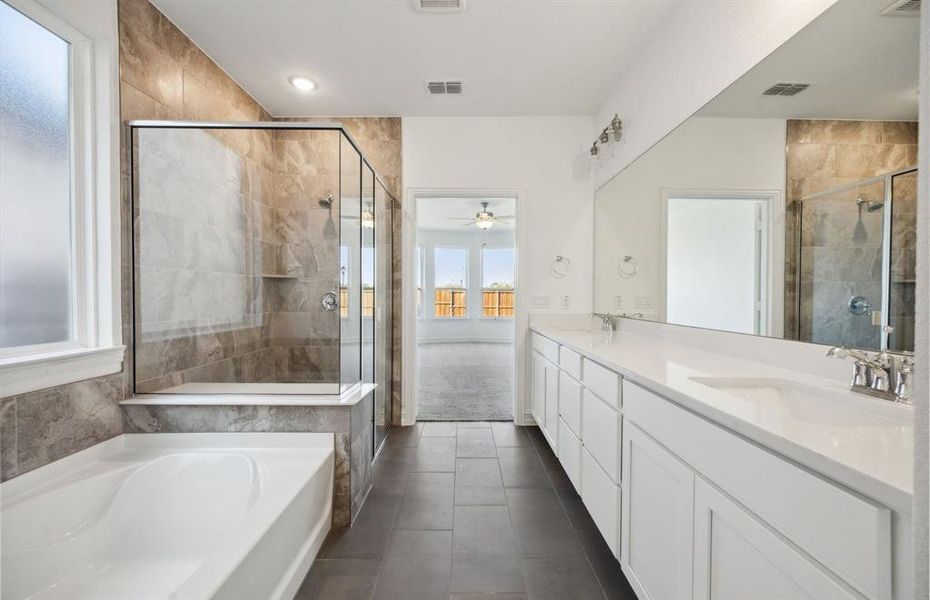
[[[804,215],[804,203],[810,200],[816,200],[818,198],[823,198],[826,196],[832,196],[835,194],[842,194],[843,192],[849,192],[861,187],[869,186],[875,183],[882,183],[882,293],[881,293],[881,330],[879,331],[879,350],[885,352],[888,350],[888,338],[890,333],[888,327],[891,325],[891,226],[892,226],[892,216],[894,210],[894,178],[901,175],[907,175],[908,173],[919,172],[919,165],[913,165],[910,167],[903,167],[901,169],[896,169],[894,171],[889,171],[888,173],[883,173],[881,175],[876,175],[874,177],[868,177],[866,179],[860,179],[859,181],[854,181],[852,183],[847,183],[844,185],[839,185],[830,189],[822,190],[820,192],[814,192],[813,194],[808,194],[800,200],[798,200],[798,209],[795,214],[795,252],[797,260],[795,261],[795,285],[797,286],[797,294],[795,294],[795,318],[798,323],[798,337],[800,338],[801,334],[801,235],[802,235],[802,226],[803,226],[803,215]],[[808,341],[808,340],[800,340]]]

